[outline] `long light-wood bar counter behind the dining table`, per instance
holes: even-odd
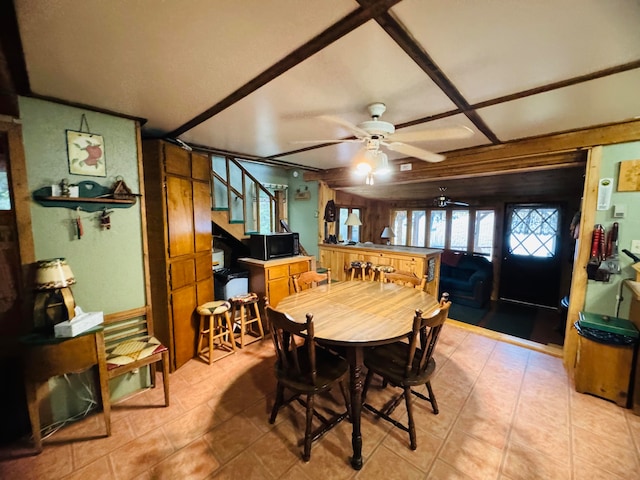
[[[331,267],[331,278],[347,280],[351,262],[371,262],[372,265],[389,265],[395,270],[427,275],[425,291],[438,296],[440,286],[440,254],[442,250],[373,243],[321,244],[318,248],[320,265]]]

